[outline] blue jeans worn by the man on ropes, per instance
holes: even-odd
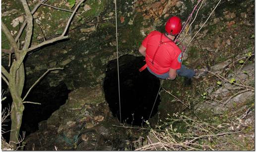
[[[169,78],[169,71],[164,73],[164,74],[158,75],[158,74],[155,74],[154,72],[152,72],[148,67],[147,67],[147,70],[151,74],[155,75],[156,77],[158,77],[160,79],[167,79],[167,78]],[[182,65],[182,67],[177,70],[177,74],[180,75],[180,76],[187,77],[187,78],[190,79],[190,78],[192,78],[194,76],[194,70],[188,69],[185,65]]]

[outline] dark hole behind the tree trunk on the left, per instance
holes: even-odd
[[[2,84],[3,85],[3,84]],[[4,84],[4,90],[6,90],[6,85]],[[25,89],[25,93],[29,88]],[[40,83],[37,85],[30,94],[27,96],[26,101],[39,102],[39,104],[24,103],[25,109],[22,116],[22,124],[20,128],[20,135],[22,131],[25,131],[25,136],[38,130],[38,123],[47,120],[54,111],[60,108],[61,105],[65,103],[70,90],[67,89],[64,83],[59,86],[50,87],[48,83]],[[2,101],[2,110],[8,107],[12,103],[12,99],[9,92],[3,96],[6,97],[5,101]],[[10,130],[11,121],[2,125],[2,129],[5,131]],[[3,138],[8,142],[9,132],[3,134]]]

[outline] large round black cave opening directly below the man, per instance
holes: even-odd
[[[143,120],[149,119],[160,87],[159,79],[148,70],[138,71],[145,64],[143,59],[142,56],[133,55],[119,58],[121,117],[122,122],[132,125],[141,125]],[[117,59],[111,60],[107,65],[104,92],[113,116],[120,120]],[[157,98],[151,117],[157,113],[159,103],[160,96]]]

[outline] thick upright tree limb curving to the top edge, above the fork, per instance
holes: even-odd
[[[27,19],[27,32],[26,32],[26,38],[25,38],[25,44],[23,46],[22,50],[26,50],[28,49],[30,42],[31,42],[31,38],[32,38],[32,32],[33,32],[33,16],[31,14],[31,11],[28,7],[28,3],[27,0],[20,0],[24,10],[26,12],[26,19]]]

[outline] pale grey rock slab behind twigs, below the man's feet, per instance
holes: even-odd
[[[219,64],[224,65],[226,61]],[[215,68],[216,66],[214,66]],[[236,82],[241,85],[240,89],[233,90],[235,88],[234,84],[229,82],[224,82],[222,86],[216,90],[212,90],[212,87],[206,89],[209,94],[209,98],[215,101],[205,101],[196,105],[195,109],[197,111],[213,111],[215,114],[227,113],[229,111],[244,111],[246,110],[246,104],[250,101],[254,101],[255,92],[253,88],[247,88],[254,84],[254,72],[255,64],[249,64],[243,67],[238,73],[236,73]],[[243,71],[248,71],[247,74]],[[217,73],[217,72],[216,72]],[[227,79],[231,79],[230,75]],[[243,82],[243,83],[240,83]],[[244,88],[243,88],[244,86]],[[239,87],[239,86],[238,86]]]

